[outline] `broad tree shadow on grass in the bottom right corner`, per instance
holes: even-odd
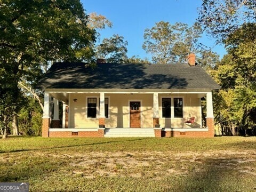
[[[256,180],[252,181],[252,175],[236,170],[238,163],[234,160],[207,158],[201,171],[188,175],[181,191],[252,191]]]

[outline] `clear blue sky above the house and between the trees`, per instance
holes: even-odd
[[[114,34],[123,36],[128,42],[127,55],[151,59],[151,55],[142,49],[143,34],[146,28],[152,28],[156,22],[165,21],[174,25],[175,22],[193,25],[198,17],[197,7],[201,0],[81,0],[87,14],[96,12],[104,15],[113,23],[112,28],[100,32],[100,40]],[[220,58],[226,54],[222,45],[214,46],[215,40],[204,35],[200,41],[206,46],[213,47]]]

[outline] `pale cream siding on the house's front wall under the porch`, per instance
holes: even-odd
[[[99,93],[72,93],[69,101],[69,127],[93,128],[98,127],[99,118],[87,118],[87,98],[97,98],[99,115]],[[197,94],[158,94],[159,98],[159,124],[161,127],[189,127],[183,123],[183,118],[162,118],[162,98],[182,97],[183,117],[195,116],[196,126],[201,127],[201,99]],[[130,102],[141,101],[141,127],[153,127],[153,94],[118,94],[106,93],[109,98],[109,118],[106,118],[105,126],[108,128],[130,127]],[[77,99],[74,102],[74,99]],[[191,103],[190,103],[191,100]],[[173,100],[172,100],[173,102]],[[172,103],[173,104],[173,103]]]

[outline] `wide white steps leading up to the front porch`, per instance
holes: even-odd
[[[104,137],[155,137],[153,128],[105,129]]]

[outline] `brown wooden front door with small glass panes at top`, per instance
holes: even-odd
[[[140,128],[140,101],[130,102],[130,127]]]

